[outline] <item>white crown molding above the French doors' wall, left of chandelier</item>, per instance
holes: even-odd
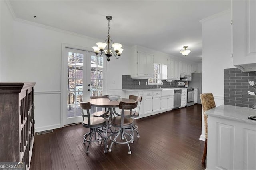
[[[21,22],[21,23],[24,23],[24,24],[33,25],[33,26],[38,26],[38,27],[41,27],[41,28],[49,29],[49,30],[53,30],[53,31],[56,31],[56,32],[62,32],[62,33],[65,33],[65,34],[70,34],[70,35],[73,35],[73,36],[78,36],[78,37],[82,37],[82,38],[94,40],[94,41],[100,41],[99,39],[92,38],[92,37],[89,37],[89,36],[85,36],[85,35],[83,35],[83,34],[77,34],[77,33],[74,33],[74,32],[62,30],[62,29],[60,29],[60,28],[55,28],[55,27],[51,27],[51,26],[46,26],[46,25],[44,25],[44,24],[38,24],[38,23],[36,23],[36,22],[32,22],[32,21],[28,21],[28,20],[23,20],[23,19],[20,19],[20,18],[15,18],[15,21]]]

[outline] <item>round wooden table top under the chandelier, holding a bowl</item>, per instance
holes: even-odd
[[[126,98],[120,98],[117,101],[110,101],[108,98],[98,98],[98,99],[90,99],[90,103],[92,106],[95,107],[118,107],[119,102],[125,102],[125,103],[134,103],[135,100],[133,99],[126,99]]]

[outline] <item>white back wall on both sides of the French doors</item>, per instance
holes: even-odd
[[[8,14],[8,11],[5,13]],[[60,119],[62,43],[91,48],[99,41],[102,40],[68,33],[24,20],[16,19],[14,21],[13,45],[11,46],[13,47],[13,55],[9,53],[4,56],[11,62],[11,67],[6,69],[9,73],[6,81],[36,82],[36,131],[62,126]],[[3,64],[7,63],[6,58]],[[116,93],[115,91],[124,93],[120,91],[122,89],[121,80],[123,73],[129,73],[129,62],[129,47],[124,49],[120,59],[115,57],[110,59],[107,66],[107,88],[112,89],[112,93]],[[124,63],[127,63],[127,65]],[[114,80],[115,83],[111,84]],[[125,96],[125,93],[121,95]]]

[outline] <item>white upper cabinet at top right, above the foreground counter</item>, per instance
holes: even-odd
[[[233,65],[256,71],[256,1],[232,0]]]

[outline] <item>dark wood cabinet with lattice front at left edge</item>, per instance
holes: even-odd
[[[0,83],[0,161],[25,162],[34,143],[34,85]]]

